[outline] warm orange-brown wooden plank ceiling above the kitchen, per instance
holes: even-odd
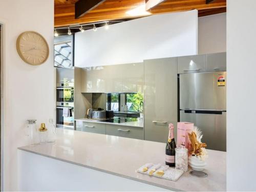
[[[106,0],[84,16],[75,19],[75,3],[78,0],[54,0],[54,26],[65,27],[76,24],[87,24],[106,20],[138,18],[146,15],[131,15],[127,11],[145,5],[145,0]],[[161,14],[198,9],[199,16],[226,12],[226,0],[166,0],[149,10],[150,14]]]

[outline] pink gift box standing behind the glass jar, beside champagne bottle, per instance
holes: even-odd
[[[194,129],[194,123],[190,122],[178,122],[177,125],[177,146],[183,145],[188,150],[190,148],[190,140],[188,133],[191,133]]]

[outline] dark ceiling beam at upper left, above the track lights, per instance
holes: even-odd
[[[82,17],[104,1],[105,0],[79,0],[75,3],[75,18]]]

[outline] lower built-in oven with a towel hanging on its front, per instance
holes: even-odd
[[[56,125],[57,127],[74,130],[73,102],[59,102],[59,105],[56,106]]]

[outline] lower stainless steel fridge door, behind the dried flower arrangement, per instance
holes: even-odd
[[[192,112],[192,113],[191,113]],[[211,114],[207,114],[211,113]],[[226,151],[226,112],[180,111],[180,121],[193,122],[203,132],[209,150]]]

